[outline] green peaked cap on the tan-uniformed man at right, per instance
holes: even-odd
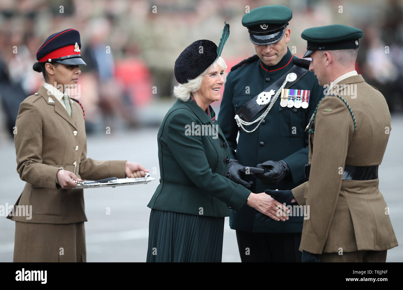
[[[337,50],[358,48],[362,30],[341,24],[326,25],[305,29],[301,37],[307,41],[307,57],[315,50]]]

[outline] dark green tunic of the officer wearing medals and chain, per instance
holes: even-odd
[[[267,67],[258,58],[231,71],[227,76],[218,114],[218,124],[232,149],[231,158],[250,167],[256,167],[259,163],[268,160],[284,160],[291,171],[291,176],[274,186],[262,184],[253,175],[242,174],[243,179],[253,181],[251,191],[254,193],[260,193],[266,189],[291,190],[305,182],[304,165],[308,163],[308,135],[304,130],[316,104],[324,96],[323,88],[318,85],[314,73],[308,71],[290,87],[291,89],[310,90],[309,106],[306,109],[302,107],[283,108],[280,106],[280,97],[278,97],[264,119],[265,123],[260,124],[260,127],[253,133],[246,133],[242,129],[238,129],[234,119],[239,108],[287,73],[293,67],[295,59],[298,58],[292,56],[288,50],[280,63],[273,67]],[[260,115],[261,113],[256,118]],[[247,126],[246,129],[251,130],[256,124]],[[238,132],[239,140],[237,142]],[[272,219],[261,222],[255,219],[256,213],[257,211],[251,207],[244,207],[237,212],[231,211],[231,228],[246,232],[302,232],[303,217],[290,217],[285,222]]]

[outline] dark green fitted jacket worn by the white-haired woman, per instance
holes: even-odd
[[[191,98],[177,100],[166,114],[158,131],[161,183],[147,205],[151,209],[228,217],[229,208],[249,207],[251,191],[226,177],[231,150],[211,106],[208,110]]]

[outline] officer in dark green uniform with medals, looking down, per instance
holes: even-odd
[[[231,179],[252,192],[291,190],[306,180],[305,127],[323,88],[308,71],[309,61],[293,56],[287,47],[291,18],[291,9],[280,5],[259,7],[243,16],[256,54],[231,69],[218,114],[231,147]],[[246,174],[243,166],[263,168],[264,174]],[[230,226],[237,231],[241,260],[301,261],[303,216],[278,223],[259,221],[257,213],[249,207],[231,210]]]

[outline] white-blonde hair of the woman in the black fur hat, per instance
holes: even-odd
[[[214,61],[208,67],[204,72],[202,72],[199,76],[195,77],[194,79],[189,80],[187,83],[179,83],[176,86],[174,86],[173,89],[173,96],[175,98],[178,98],[179,100],[182,100],[184,102],[187,102],[190,98],[190,93],[191,92],[196,92],[202,87],[202,82],[203,82],[203,77],[204,74],[206,74],[209,70],[214,70],[216,69],[217,66],[222,67],[224,70],[224,82],[226,81],[226,73],[225,70],[227,69],[226,63],[224,61],[224,58],[221,56],[218,56],[217,60]]]

